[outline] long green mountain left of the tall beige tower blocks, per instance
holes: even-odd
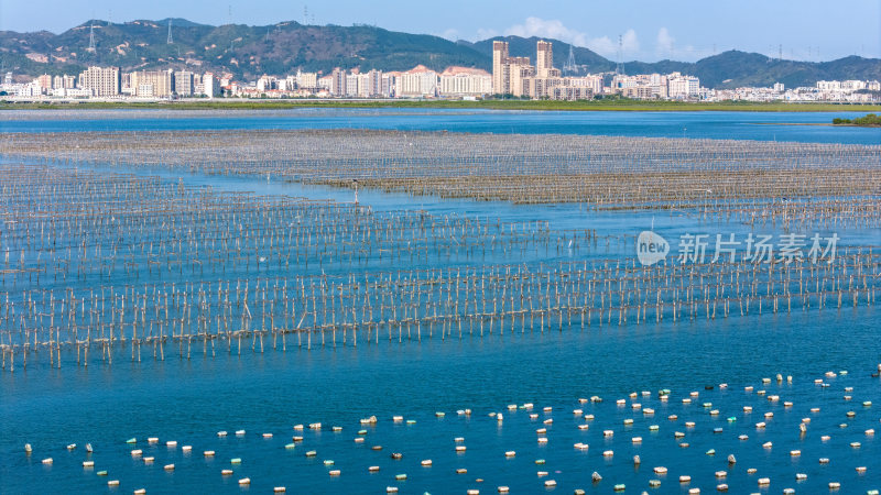
[[[489,68],[472,48],[443,37],[407,34],[369,25],[303,25],[281,22],[249,26],[210,26],[172,19],[109,24],[87,21],[61,34],[0,32],[0,57],[7,70],[37,75],[76,74],[89,65],[123,70],[188,67],[230,72],[237,77],[330,72],[334,67],[405,70],[418,64],[443,70],[456,65]],[[94,26],[94,28],[93,28]],[[96,51],[89,52],[94,29]]]

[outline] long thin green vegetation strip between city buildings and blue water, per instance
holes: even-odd
[[[454,110],[545,110],[545,111],[749,111],[749,112],[840,112],[879,111],[881,105],[786,103],[786,102],[686,102],[614,100],[227,100],[187,101],[57,101],[17,102],[0,100],[0,110],[46,109],[173,109],[173,110],[283,110],[296,108],[355,109],[454,109]]]

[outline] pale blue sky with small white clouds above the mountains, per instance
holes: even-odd
[[[727,50],[800,61],[881,58],[881,0],[507,0],[443,2],[334,0],[0,0],[0,30],[54,33],[95,18],[112,22],[184,18],[220,25],[282,21],[371,24],[392,31],[478,41],[553,37],[617,59],[693,62]],[[557,54],[562,59],[566,54]],[[557,64],[558,65],[558,64]]]

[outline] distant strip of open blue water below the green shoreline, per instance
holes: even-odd
[[[87,113],[88,114],[88,113]],[[831,128],[835,118],[864,112],[562,112],[446,109],[292,109],[206,112],[112,110],[81,118],[75,111],[10,112],[3,132],[174,131],[232,129],[387,129],[497,134],[585,134],[881,144],[878,129]]]

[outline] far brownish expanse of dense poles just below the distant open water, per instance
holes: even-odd
[[[838,215],[877,205],[881,146],[820,143],[493,135],[371,130],[14,134],[0,153],[53,164],[109,165],[521,204],[692,208],[763,202],[765,216]],[[840,200],[822,207],[792,199]],[[831,208],[830,212],[827,210]],[[781,210],[783,209],[783,210]],[[784,211],[785,210],[785,211]],[[840,213],[847,215],[847,213]],[[874,224],[877,208],[869,210]]]

